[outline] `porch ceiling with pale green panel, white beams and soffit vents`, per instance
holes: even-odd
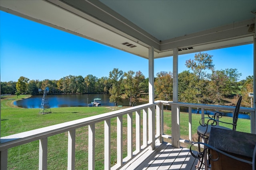
[[[252,43],[256,0],[1,0],[0,10],[144,58],[153,46],[159,58],[176,47],[185,54]]]

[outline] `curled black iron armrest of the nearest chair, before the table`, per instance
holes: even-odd
[[[204,145],[205,146],[205,149],[202,151],[202,152],[199,152],[197,155],[195,155],[192,151],[192,146],[193,145]],[[194,143],[193,145],[190,146],[190,153],[192,156],[194,156],[195,158],[198,158],[199,160],[202,160],[201,163],[200,163],[200,166],[198,167],[198,169],[201,169],[202,165],[204,164],[203,160],[204,160],[204,157],[206,154],[208,154],[210,151],[209,150],[212,150],[212,152],[216,152],[218,157],[217,158],[213,158],[211,154],[208,155],[208,159],[209,159],[209,162],[210,161],[217,161],[219,159],[219,153],[223,154],[223,155],[226,155],[230,158],[233,158],[235,160],[238,160],[238,161],[241,161],[241,162],[245,162],[245,163],[248,163],[248,164],[251,164],[252,165],[252,170],[256,170],[256,145],[254,147],[254,152],[253,152],[253,156],[252,156],[252,161],[249,161],[249,160],[245,160],[245,159],[242,159],[242,158],[238,158],[236,156],[233,156],[233,155],[230,155],[226,152],[223,152],[222,150],[219,150],[219,149],[216,149],[214,147],[212,147],[211,145],[208,145],[206,143],[201,143],[201,142],[198,142],[198,143]],[[205,167],[208,167],[210,163],[208,163],[207,165],[205,165]]]

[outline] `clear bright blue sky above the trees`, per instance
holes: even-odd
[[[240,80],[253,75],[253,45],[204,51],[213,55],[216,70],[237,68]],[[178,72],[188,70],[185,61],[194,54],[179,55]],[[155,59],[154,74],[172,71],[172,57]],[[52,27],[0,11],[0,80],[59,80],[68,75],[98,78],[118,68],[140,70],[148,77],[148,60]]]

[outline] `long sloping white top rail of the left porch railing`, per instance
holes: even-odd
[[[100,121],[108,120],[114,117],[125,115],[134,111],[147,109],[148,107],[153,107],[160,102],[155,102],[154,104],[143,104],[139,106],[129,107],[121,110],[111,111],[108,113],[103,113],[100,115],[94,115],[91,117],[86,117],[82,119],[77,119],[74,121],[68,121],[65,123],[60,123],[57,125],[52,125],[48,127],[43,127],[40,129],[34,129],[31,131],[26,131],[22,133],[17,133],[14,135],[9,135],[6,137],[1,137],[0,139],[0,150],[6,150],[15,146],[19,146],[32,141],[37,141],[39,139],[44,139],[52,135],[60,134],[66,131],[84,127],[93,123],[98,123]]]

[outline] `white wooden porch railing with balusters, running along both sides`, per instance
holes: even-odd
[[[189,110],[189,140],[180,139],[179,130],[172,131],[172,136],[163,134],[163,105],[171,105],[179,111],[180,106],[188,107]],[[101,115],[95,115],[92,117],[86,117],[75,121],[69,121],[66,123],[60,123],[58,125],[52,125],[32,131],[18,133],[1,138],[0,143],[0,168],[1,170],[7,169],[8,164],[8,149],[16,146],[20,146],[33,141],[39,141],[39,169],[47,169],[47,149],[48,149],[48,137],[57,135],[63,132],[68,132],[68,170],[75,169],[75,141],[76,141],[76,129],[80,127],[88,126],[88,169],[95,169],[95,123],[104,122],[104,169],[112,170],[119,169],[124,164],[128,163],[134,156],[140,154],[144,149],[154,149],[155,142],[162,143],[163,137],[171,138],[172,142],[178,143],[193,143],[192,141],[192,107],[199,107],[202,110],[202,117],[204,117],[204,109],[216,109],[216,110],[231,110],[234,111],[234,107],[229,106],[213,106],[213,105],[200,105],[200,104],[187,104],[187,103],[173,103],[166,101],[156,101],[154,104],[144,104],[140,106],[130,107],[118,111],[112,111]],[[175,109],[174,109],[175,110]],[[142,111],[142,116],[141,116]],[[253,108],[241,107],[240,111],[251,113],[251,128],[252,133],[255,133],[255,111]],[[136,128],[135,132],[132,126],[132,114],[135,112]],[[172,111],[175,112],[175,111]],[[176,129],[179,127],[179,114],[172,113],[173,122],[176,122]],[[127,156],[123,158],[123,116],[127,115]],[[142,121],[141,121],[142,117]],[[110,160],[110,119],[117,119],[117,162],[116,165],[111,167]],[[142,131],[141,131],[142,122]],[[174,126],[174,123],[172,123]],[[133,151],[133,133],[136,137],[136,149]],[[141,139],[142,135],[142,139]]]

